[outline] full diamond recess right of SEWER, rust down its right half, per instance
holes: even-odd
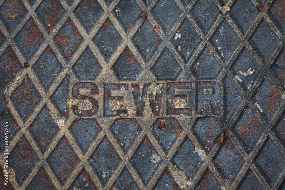
[[[269,118],[270,115],[272,115],[272,113],[275,111],[275,107],[281,96],[270,79],[266,77],[254,98],[261,107],[262,112],[264,112]]]

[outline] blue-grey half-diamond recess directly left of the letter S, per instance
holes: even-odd
[[[67,110],[67,99],[68,99],[68,83],[69,78],[68,76],[64,77],[62,83],[59,85],[58,89],[52,95],[52,99],[56,103],[57,107],[60,109],[62,115],[67,118],[68,117],[68,110]]]

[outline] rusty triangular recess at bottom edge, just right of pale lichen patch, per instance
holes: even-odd
[[[197,190],[205,190],[205,189],[221,189],[220,184],[218,183],[217,179],[211,173],[210,169],[207,167],[206,173],[201,180]]]

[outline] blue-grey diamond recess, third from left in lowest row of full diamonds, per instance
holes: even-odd
[[[115,171],[115,166],[120,161],[116,151],[105,136],[100,146],[89,159],[91,166],[99,174],[99,178],[106,183],[110,175]]]

